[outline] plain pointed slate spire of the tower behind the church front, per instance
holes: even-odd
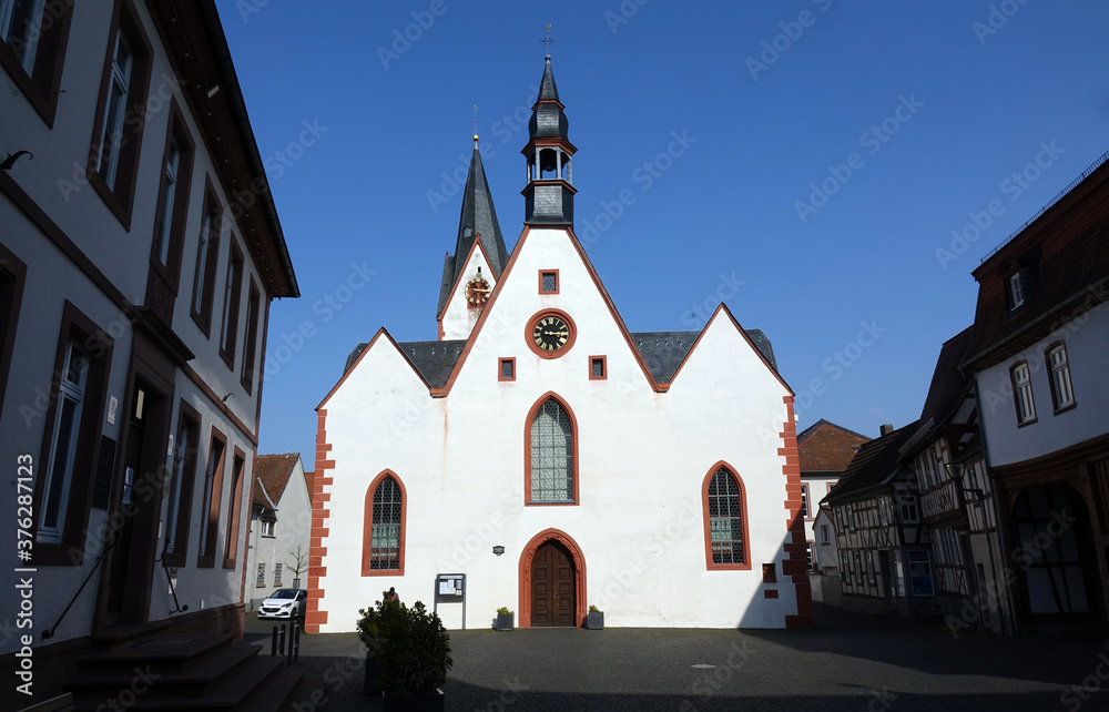
[[[508,248],[500,234],[500,223],[497,222],[497,211],[492,205],[492,194],[486,181],[485,166],[481,164],[481,152],[478,151],[478,136],[474,135],[474,154],[470,156],[469,173],[466,176],[466,187],[462,190],[462,208],[458,216],[458,238],[455,242],[455,254],[447,255],[442,265],[442,284],[439,287],[439,307],[436,316],[442,315],[442,309],[450,298],[451,289],[458,282],[459,272],[466,268],[466,258],[474,247],[474,241],[481,243],[489,268],[494,277],[508,264]]]

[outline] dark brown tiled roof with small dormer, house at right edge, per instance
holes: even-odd
[[[1018,268],[1025,302],[1009,308],[1006,281]],[[1109,163],[1093,170],[973,274],[978,303],[967,359],[980,368],[1045,336],[1060,311],[1075,308],[1087,289],[1109,278]]]

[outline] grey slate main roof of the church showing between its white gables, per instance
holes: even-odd
[[[777,363],[774,360],[774,348],[766,335],[760,329],[746,329],[745,333],[776,372]],[[630,336],[647,363],[647,367],[651,369],[651,377],[658,383],[670,383],[685,355],[693,347],[693,342],[696,340],[700,332],[632,332]],[[358,344],[350,352],[343,373],[350,370],[350,366],[366,350],[366,346],[367,344]],[[413,362],[416,370],[424,377],[428,386],[442,388],[447,384],[447,378],[450,377],[450,372],[455,368],[458,357],[462,354],[466,340],[403,342],[397,343],[397,346]]]

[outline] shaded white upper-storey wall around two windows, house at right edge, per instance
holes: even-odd
[[[1045,349],[1067,345],[1077,406],[1052,413],[1050,367]],[[1109,431],[1109,308],[1101,303],[1022,352],[976,374],[989,462],[1001,467],[1054,452]],[[1017,427],[1009,368],[1027,360],[1031,372],[1036,423]]]

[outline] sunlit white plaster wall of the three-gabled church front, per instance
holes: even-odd
[[[560,269],[560,294],[537,294],[541,268]],[[781,570],[785,458],[756,426],[787,420],[787,390],[731,319],[718,314],[670,391],[657,394],[564,231],[533,230],[500,288],[448,397],[429,397],[383,337],[324,404],[336,462],[325,489],[324,630],[353,630],[358,609],[390,586],[430,606],[437,572],[468,574],[466,624],[487,627],[498,607],[519,610],[521,552],[549,528],[581,548],[584,603],[609,625],[784,625],[796,613]],[[526,340],[528,321],[548,307],[577,326],[556,359]],[[588,379],[594,355],[607,356],[607,380]],[[505,356],[517,359],[516,382],[497,382]],[[577,418],[579,504],[525,507],[527,414],[549,390]],[[750,571],[705,570],[701,488],[720,460],[745,487]],[[408,497],[405,574],[362,577],[366,492],[386,468]],[[780,599],[763,598],[764,562],[776,564]]]

